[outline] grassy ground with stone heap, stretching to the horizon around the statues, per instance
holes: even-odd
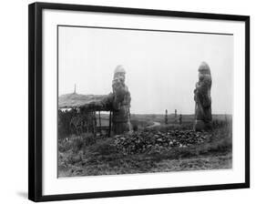
[[[95,176],[232,167],[231,117],[213,116],[213,129],[194,132],[193,116],[131,115],[133,133],[58,139],[58,176]],[[158,126],[148,128],[158,122]]]

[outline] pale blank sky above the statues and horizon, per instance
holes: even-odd
[[[131,113],[193,114],[198,67],[209,64],[213,114],[231,114],[233,36],[59,27],[59,96],[108,94],[118,65],[127,71]]]

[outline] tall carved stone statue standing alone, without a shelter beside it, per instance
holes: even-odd
[[[194,90],[195,124],[194,130],[201,131],[211,128],[211,75],[210,66],[202,62],[199,67],[199,82],[196,83]]]

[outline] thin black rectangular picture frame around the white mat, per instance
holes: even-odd
[[[132,189],[92,193],[42,195],[42,11],[57,9],[68,11],[90,11],[128,15],[175,16],[214,20],[231,20],[245,23],[245,182],[221,185],[192,186],[161,189]],[[108,7],[94,5],[67,5],[34,3],[28,9],[28,199],[49,201],[64,199],[93,199],[106,197],[135,196],[147,194],[176,193],[188,191],[244,189],[250,188],[250,16],[219,15],[167,10],[149,10],[125,7]]]

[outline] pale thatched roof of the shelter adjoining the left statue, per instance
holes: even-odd
[[[81,107],[91,102],[100,101],[107,95],[65,94],[58,97],[58,108]]]

